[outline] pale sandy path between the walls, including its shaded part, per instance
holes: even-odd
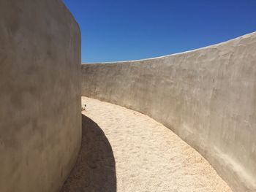
[[[139,112],[82,98],[83,141],[61,191],[231,191],[172,131]]]

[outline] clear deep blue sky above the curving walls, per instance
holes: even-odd
[[[255,0],[63,0],[80,25],[82,62],[179,53],[256,31]]]

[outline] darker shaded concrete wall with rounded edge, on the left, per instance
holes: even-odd
[[[80,137],[78,24],[61,0],[0,0],[0,191],[59,191]]]

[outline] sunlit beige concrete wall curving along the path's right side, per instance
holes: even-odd
[[[256,191],[256,33],[141,61],[83,64],[82,95],[158,120],[234,191]]]

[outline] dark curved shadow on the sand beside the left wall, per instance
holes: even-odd
[[[61,192],[116,192],[116,163],[107,137],[85,115],[82,115],[82,130],[77,163]]]

